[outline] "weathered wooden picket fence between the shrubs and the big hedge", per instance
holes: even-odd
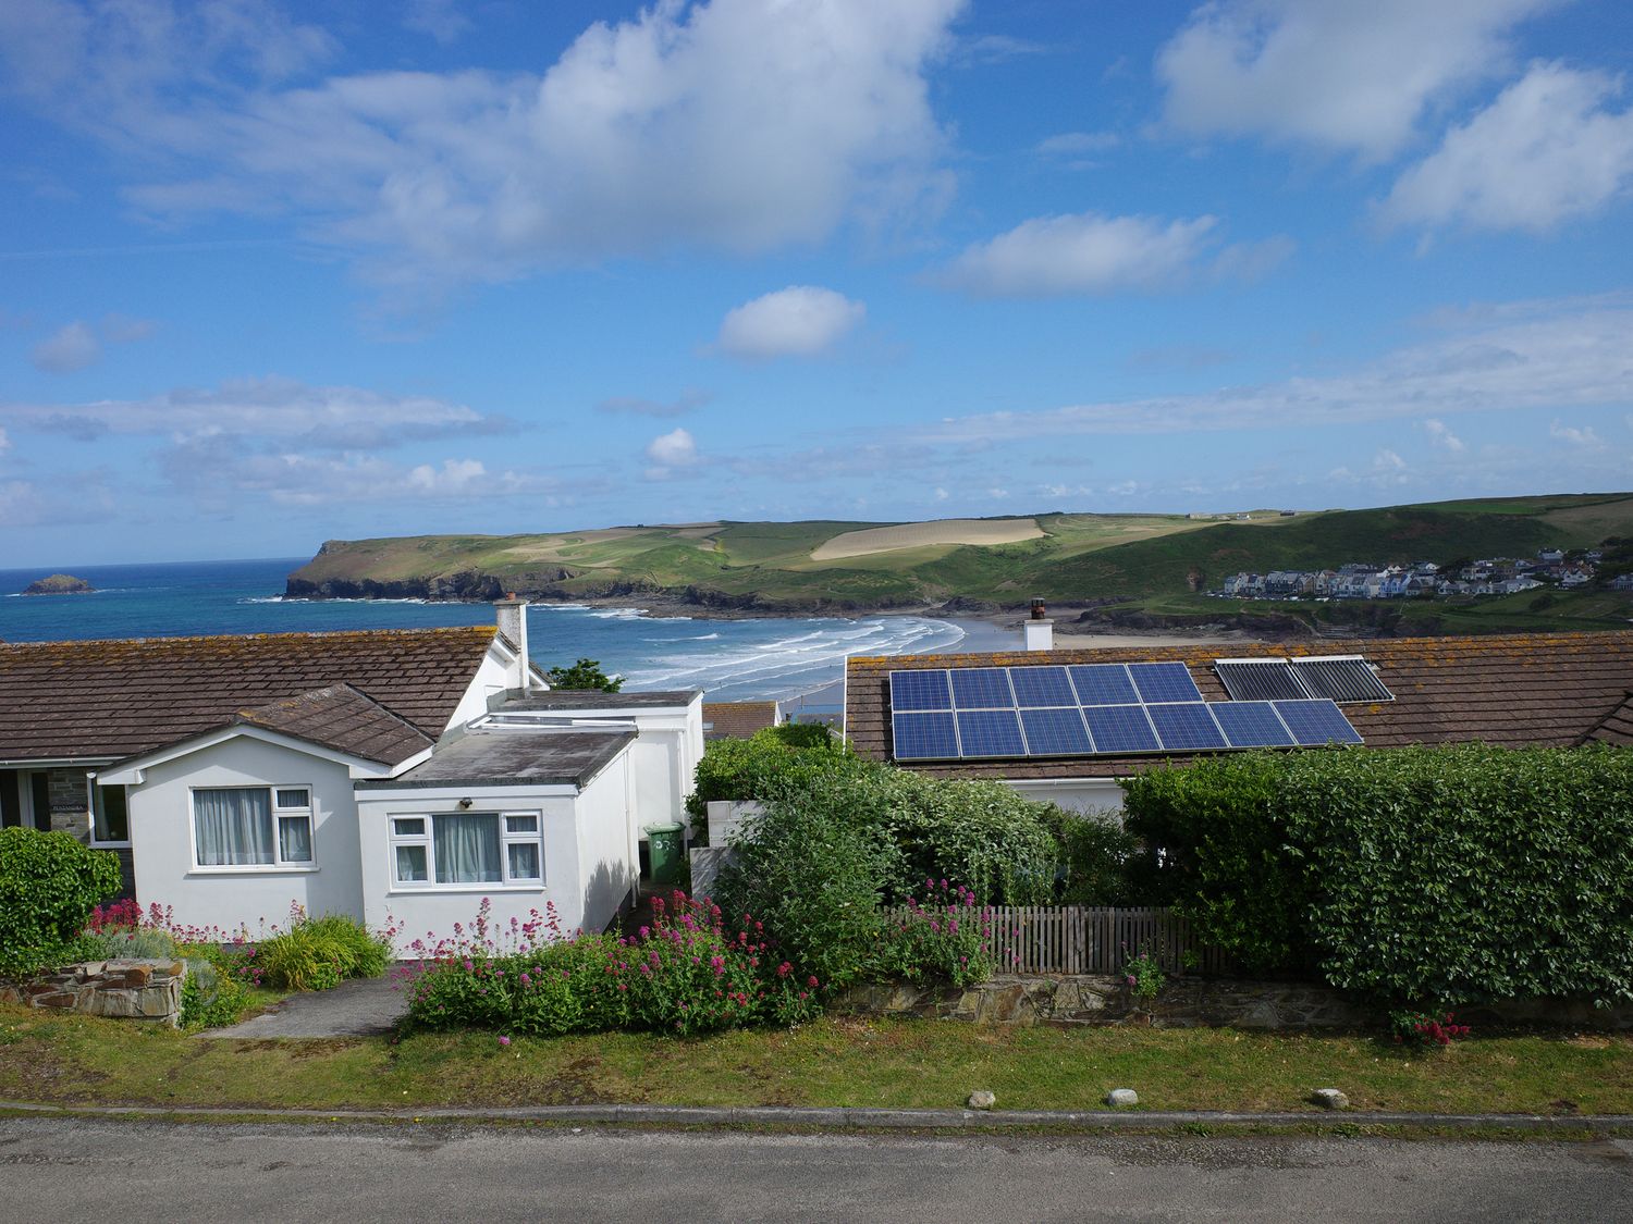
[[[901,922],[906,907],[887,911]],[[1117,973],[1130,956],[1151,953],[1169,973],[1186,953],[1199,973],[1226,973],[1225,955],[1204,945],[1186,919],[1168,909],[1101,906],[988,906],[963,909],[960,924],[986,925],[983,943],[998,973]]]

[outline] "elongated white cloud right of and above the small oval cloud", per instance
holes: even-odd
[[[1259,276],[1292,248],[1285,238],[1272,238],[1215,255],[1217,225],[1213,217],[1034,217],[975,243],[937,279],[977,297],[1158,292],[1197,276]]]

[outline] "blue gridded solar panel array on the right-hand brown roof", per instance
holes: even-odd
[[[890,721],[897,761],[1360,743],[1333,700],[1205,702],[1182,663],[893,671]]]

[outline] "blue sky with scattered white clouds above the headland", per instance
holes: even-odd
[[[0,566],[1633,488],[1633,8],[0,5]]]

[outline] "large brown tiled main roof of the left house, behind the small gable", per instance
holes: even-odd
[[[492,627],[0,643],[0,761],[122,759],[348,684],[436,738]]]

